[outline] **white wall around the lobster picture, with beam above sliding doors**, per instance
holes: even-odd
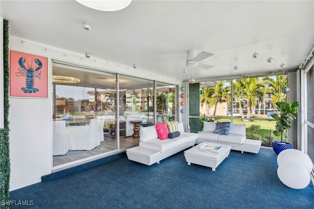
[[[177,78],[163,78],[145,70],[118,65],[84,54],[69,52],[51,46],[10,36],[9,49],[48,57],[48,98],[9,98],[10,101],[10,190],[41,181],[52,171],[52,60],[90,66],[100,70],[153,79],[181,85]],[[46,49],[46,50],[45,50]],[[64,56],[66,54],[67,56]]]

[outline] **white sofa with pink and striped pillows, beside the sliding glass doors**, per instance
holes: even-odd
[[[146,165],[159,163],[160,160],[172,156],[186,148],[194,146],[197,133],[184,132],[183,123],[178,123],[180,136],[160,140],[156,125],[140,129],[139,146],[126,150],[130,160]]]

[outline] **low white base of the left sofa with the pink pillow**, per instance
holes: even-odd
[[[143,163],[145,165],[152,165],[154,163],[159,163],[160,160],[170,157],[186,148],[194,146],[194,144],[195,140],[192,140],[164,152],[137,146],[127,149],[127,156],[130,160]]]

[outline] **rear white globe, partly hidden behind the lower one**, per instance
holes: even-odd
[[[313,169],[313,163],[309,156],[302,153],[300,150],[287,149],[278,154],[277,164],[280,166],[284,162],[297,162],[303,165],[306,170],[311,173]]]

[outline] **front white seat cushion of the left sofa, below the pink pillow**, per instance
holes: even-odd
[[[139,146],[164,152],[166,150],[170,150],[176,146],[179,146],[180,144],[183,144],[183,143],[184,141],[175,141],[172,139],[160,140],[159,138],[156,138],[156,139],[150,139],[146,141],[140,141]]]

